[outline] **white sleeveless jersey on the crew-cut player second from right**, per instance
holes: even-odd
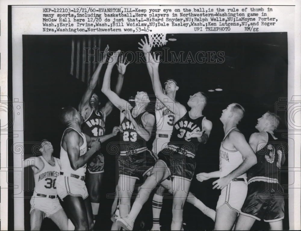
[[[236,169],[242,162],[243,157],[241,153],[236,150],[228,150],[223,147],[225,139],[228,137],[231,131],[237,129],[236,127],[230,128],[230,130],[225,134],[224,139],[222,140],[221,147],[219,149],[219,171],[220,178],[228,175],[234,169]],[[238,130],[238,129],[237,129]],[[246,178],[247,174],[244,173],[237,178]]]

